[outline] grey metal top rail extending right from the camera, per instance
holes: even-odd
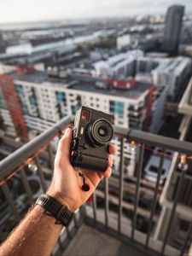
[[[192,154],[192,143],[179,141],[171,137],[156,135],[146,131],[129,130],[118,126],[114,126],[114,132],[137,143],[150,144],[151,146],[170,149],[183,154]]]

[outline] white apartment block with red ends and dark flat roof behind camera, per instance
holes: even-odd
[[[43,132],[67,114],[74,115],[81,105],[113,114],[114,125],[139,130],[150,126],[152,84],[133,81],[134,86],[129,90],[115,86],[104,90],[97,88],[95,84],[83,84],[73,79],[58,83],[51,81],[44,72],[34,69],[21,72],[19,69],[1,77],[2,95],[2,84],[7,77],[12,78],[9,83],[13,83],[12,91],[15,91],[14,96],[20,104],[29,137]],[[9,102],[8,98],[6,100]],[[15,122],[11,122],[13,110],[5,104],[1,107],[4,124],[17,130]],[[126,145],[125,152],[125,158],[130,161],[126,173],[132,176],[137,162],[137,150]],[[118,170],[119,158],[115,160],[115,164]]]

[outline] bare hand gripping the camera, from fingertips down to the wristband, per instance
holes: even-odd
[[[74,170],[69,160],[72,136],[72,129],[67,128],[59,142],[55,156],[53,180],[47,194],[53,196],[61,204],[66,205],[69,210],[75,211],[90,198],[90,195],[93,194],[103,177],[111,176],[113,158],[110,154],[115,154],[117,148],[113,144],[109,145],[108,168],[106,172],[93,172],[81,169],[84,173],[85,182],[90,185],[90,190],[85,192],[81,189],[83,179],[79,177],[79,174]]]

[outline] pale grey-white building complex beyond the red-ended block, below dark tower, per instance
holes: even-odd
[[[109,57],[107,61],[93,63],[96,77],[128,79],[166,86],[167,96],[175,100],[183,92],[192,73],[192,61],[188,57],[151,58],[141,50],[130,50]]]

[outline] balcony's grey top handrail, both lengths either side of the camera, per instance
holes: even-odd
[[[73,116],[62,119],[57,125],[44,131],[38,137],[35,137],[31,142],[26,143],[21,148],[18,148],[14,153],[10,154],[0,162],[0,180],[6,175],[9,175],[15,167],[20,166],[28,157],[35,154],[44,144],[49,143],[49,140],[61,131],[67,124],[73,121]],[[163,137],[145,131],[135,131],[114,126],[114,131],[123,137],[128,137],[129,140],[134,140],[138,143],[147,143],[152,146],[159,146],[183,154],[192,154],[192,143],[179,141],[170,137]]]

